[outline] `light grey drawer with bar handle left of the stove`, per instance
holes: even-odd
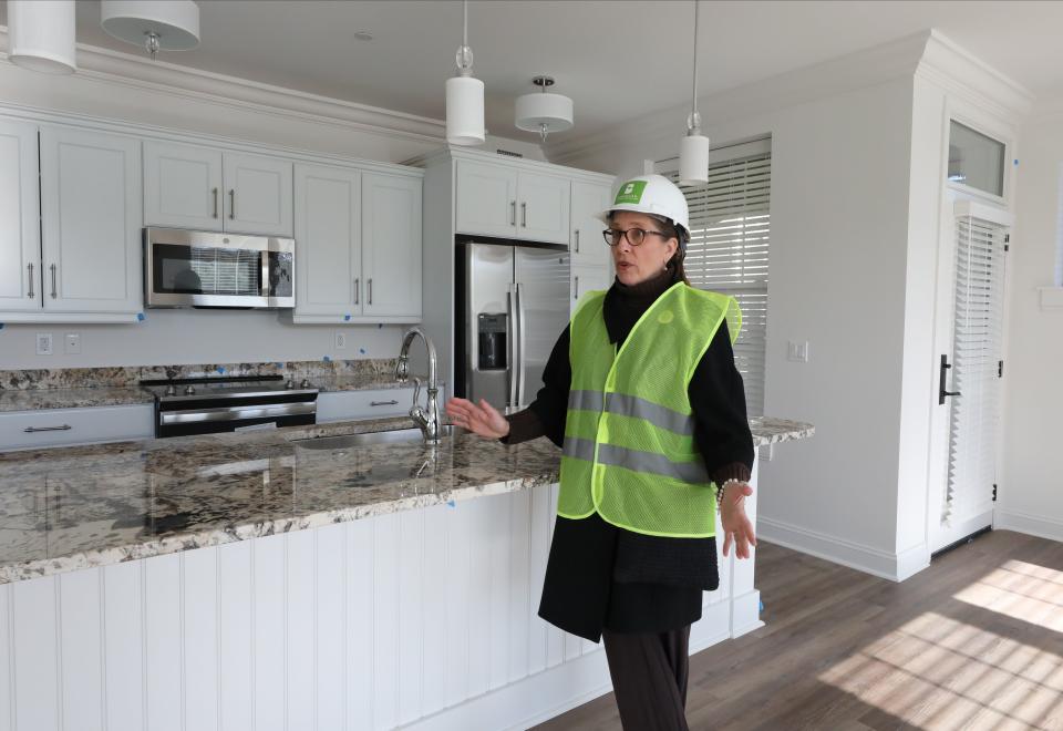
[[[0,450],[151,439],[155,406],[45,409],[0,414]]]

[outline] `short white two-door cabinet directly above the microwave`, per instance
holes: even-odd
[[[144,220],[148,226],[291,237],[291,163],[145,142]]]

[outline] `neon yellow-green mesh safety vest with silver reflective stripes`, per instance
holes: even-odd
[[[619,351],[602,318],[603,291],[572,315],[572,385],[565,421],[557,514],[654,536],[715,533],[715,490],[694,444],[688,385],[720,323],[731,342],[733,297],[678,282],[642,313]]]

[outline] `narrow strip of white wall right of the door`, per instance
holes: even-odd
[[[1054,112],[1021,130],[997,513],[998,527],[1063,540],[1063,310],[1042,310],[1038,291],[1060,284],[1063,113],[1061,100],[1051,101]]]

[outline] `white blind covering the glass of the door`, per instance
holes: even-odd
[[[956,220],[956,320],[949,474],[942,523],[992,509],[997,481],[999,362],[1003,333],[1004,233],[972,216]]]

